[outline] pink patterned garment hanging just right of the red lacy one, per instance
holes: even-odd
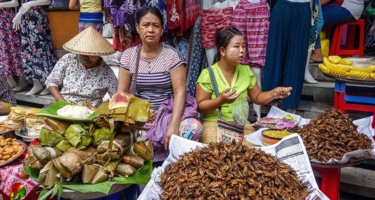
[[[241,31],[245,42],[242,64],[256,68],[264,66],[269,27],[267,1],[251,3],[240,0],[233,10],[231,25]]]

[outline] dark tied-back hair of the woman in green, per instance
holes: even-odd
[[[235,35],[242,36],[241,32],[235,27],[223,29],[216,35],[217,52],[215,56],[213,57],[213,63],[216,63],[220,60],[220,56],[221,56],[220,48],[221,47],[226,48],[226,46],[230,42],[230,39],[232,39]]]

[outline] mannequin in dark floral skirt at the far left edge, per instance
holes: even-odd
[[[22,76],[20,32],[12,29],[15,14],[10,7],[16,6],[17,0],[0,0],[0,75],[6,77],[10,87],[22,89],[28,82]],[[19,76],[18,86],[13,76]]]

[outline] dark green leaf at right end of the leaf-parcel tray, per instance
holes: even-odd
[[[139,171],[135,172],[134,174],[130,175],[129,177],[117,177],[114,176],[112,179],[116,181],[118,184],[126,184],[126,183],[133,183],[133,184],[147,184],[148,181],[151,179],[152,173],[152,160],[145,160],[144,165]]]

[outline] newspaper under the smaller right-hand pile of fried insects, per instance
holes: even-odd
[[[298,123],[296,125],[301,126],[303,124],[306,124],[309,122],[309,119],[302,118],[299,115],[291,114],[288,112],[285,112],[281,110],[280,108],[272,106],[270,111],[267,114],[267,117],[276,117],[276,118],[282,118],[286,114],[290,114],[293,116],[294,119],[298,120]],[[354,124],[358,126],[357,130],[360,133],[366,134],[369,138],[372,140],[372,148],[373,149],[361,149],[356,151],[347,152],[342,156],[341,160],[337,160],[334,158],[330,158],[327,162],[320,162],[317,160],[310,160],[312,163],[318,163],[318,164],[346,164],[346,163],[354,163],[358,162],[364,159],[367,159],[369,157],[375,156],[375,141],[373,140],[373,136],[375,135],[374,129],[371,127],[372,123],[372,116],[361,118],[358,120],[353,121]],[[261,131],[265,130],[266,128],[260,128],[257,131],[245,135],[245,139],[253,144],[264,146],[264,144],[261,141]]]

